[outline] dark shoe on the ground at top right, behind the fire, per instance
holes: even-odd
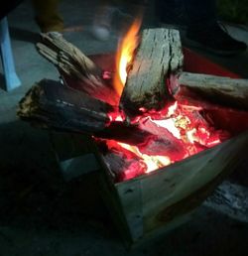
[[[247,49],[245,43],[232,38],[217,22],[200,30],[188,28],[183,45],[226,57],[244,53]]]

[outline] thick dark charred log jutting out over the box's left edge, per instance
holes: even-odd
[[[87,94],[44,79],[35,84],[20,101],[18,115],[44,128],[70,132],[96,132],[110,122],[114,108]]]

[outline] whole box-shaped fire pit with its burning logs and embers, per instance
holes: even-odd
[[[151,51],[161,38],[163,51]],[[87,58],[63,39],[44,39],[38,49],[59,67],[63,84],[42,80],[18,114],[45,128],[89,134],[103,197],[129,243],[181,223],[245,157],[247,81],[183,55],[177,31],[146,31],[138,51],[135,42],[124,89],[113,86],[123,82],[114,55]],[[188,72],[200,62],[233,79]]]

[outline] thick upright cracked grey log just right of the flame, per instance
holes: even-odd
[[[179,31],[144,30],[122,92],[121,108],[130,116],[141,114],[141,109],[162,109],[171,98],[165,81],[182,66]]]

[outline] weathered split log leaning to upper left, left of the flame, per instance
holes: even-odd
[[[103,79],[103,70],[62,36],[42,34],[42,42],[37,44],[37,50],[57,66],[64,83],[69,87],[117,105],[119,98],[112,85]],[[104,89],[100,89],[102,87]]]

